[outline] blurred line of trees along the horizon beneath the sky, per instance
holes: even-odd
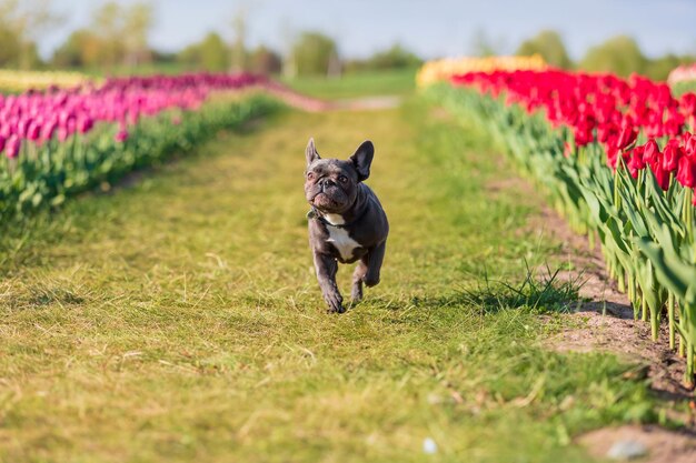
[[[414,68],[421,59],[400,44],[378,51],[366,59],[341,59],[337,42],[319,32],[298,34],[285,53],[267,46],[247,47],[247,21],[243,11],[229,24],[231,41],[218,32],[208,33],[197,43],[178,52],[152,49],[148,36],[153,27],[155,11],[147,1],[127,6],[115,1],[99,4],[91,11],[90,26],[72,31],[46,60],[37,51],[42,34],[60,26],[64,18],[51,12],[51,0],[0,0],[0,67],[37,69],[95,69],[110,72],[118,67],[171,64],[178,69],[208,71],[248,70],[261,73],[339,74],[369,69]],[[485,37],[475,37],[478,54],[495,53],[496,47]],[[551,66],[563,69],[608,71],[619,76],[630,72],[664,80],[668,72],[694,56],[666,54],[647,58],[630,37],[619,36],[587,50],[574,62],[560,33],[539,32],[525,40],[516,54],[538,53]]]

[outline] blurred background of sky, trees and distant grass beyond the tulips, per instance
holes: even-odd
[[[692,0],[0,0],[0,68],[243,70],[300,91],[352,76],[398,93],[424,60],[539,53],[665,80],[696,58],[695,19]]]

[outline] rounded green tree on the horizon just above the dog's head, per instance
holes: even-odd
[[[339,71],[336,42],[319,32],[304,32],[299,37],[292,46],[291,61],[298,74],[326,76]]]

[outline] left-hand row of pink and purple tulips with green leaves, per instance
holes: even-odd
[[[271,111],[268,98],[227,97],[265,83],[200,73],[0,95],[0,220],[59,204]]]

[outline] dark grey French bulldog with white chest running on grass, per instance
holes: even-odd
[[[375,155],[365,141],[347,160],[321,159],[309,140],[306,150],[305,197],[311,205],[309,245],[317,280],[329,312],[344,313],[344,298],[336,285],[338,262],[358,265],[352,273],[351,300],[362,299],[362,284],[379,283],[389,222],[377,195],[364,182]]]

